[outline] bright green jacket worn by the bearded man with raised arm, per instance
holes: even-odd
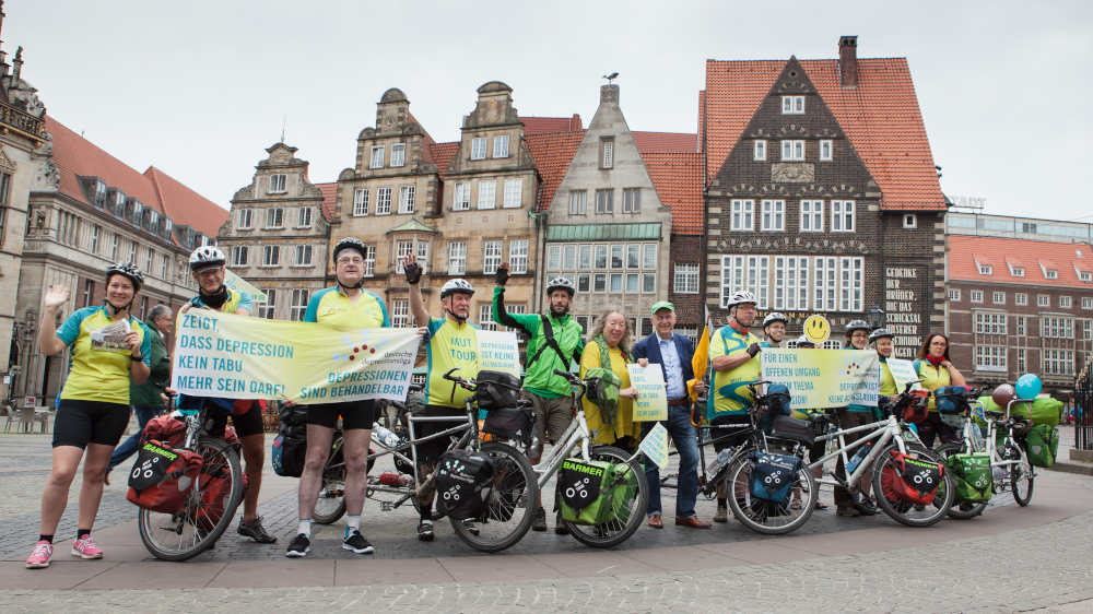
[[[557,399],[569,395],[569,382],[564,378],[554,375],[554,369],[568,371],[571,361],[580,363],[580,353],[585,351],[585,343],[580,339],[581,330],[577,320],[572,316],[555,318],[548,315],[551,329],[554,331],[554,341],[559,350],[565,356],[557,355],[546,344],[546,334],[542,330],[542,319],[538,314],[509,314],[505,310],[505,288],[494,286],[493,288],[493,321],[501,326],[515,328],[524,331],[528,335],[528,364],[525,366],[524,388],[525,390],[543,397],[545,399]],[[531,358],[539,354],[539,358],[532,363]]]

